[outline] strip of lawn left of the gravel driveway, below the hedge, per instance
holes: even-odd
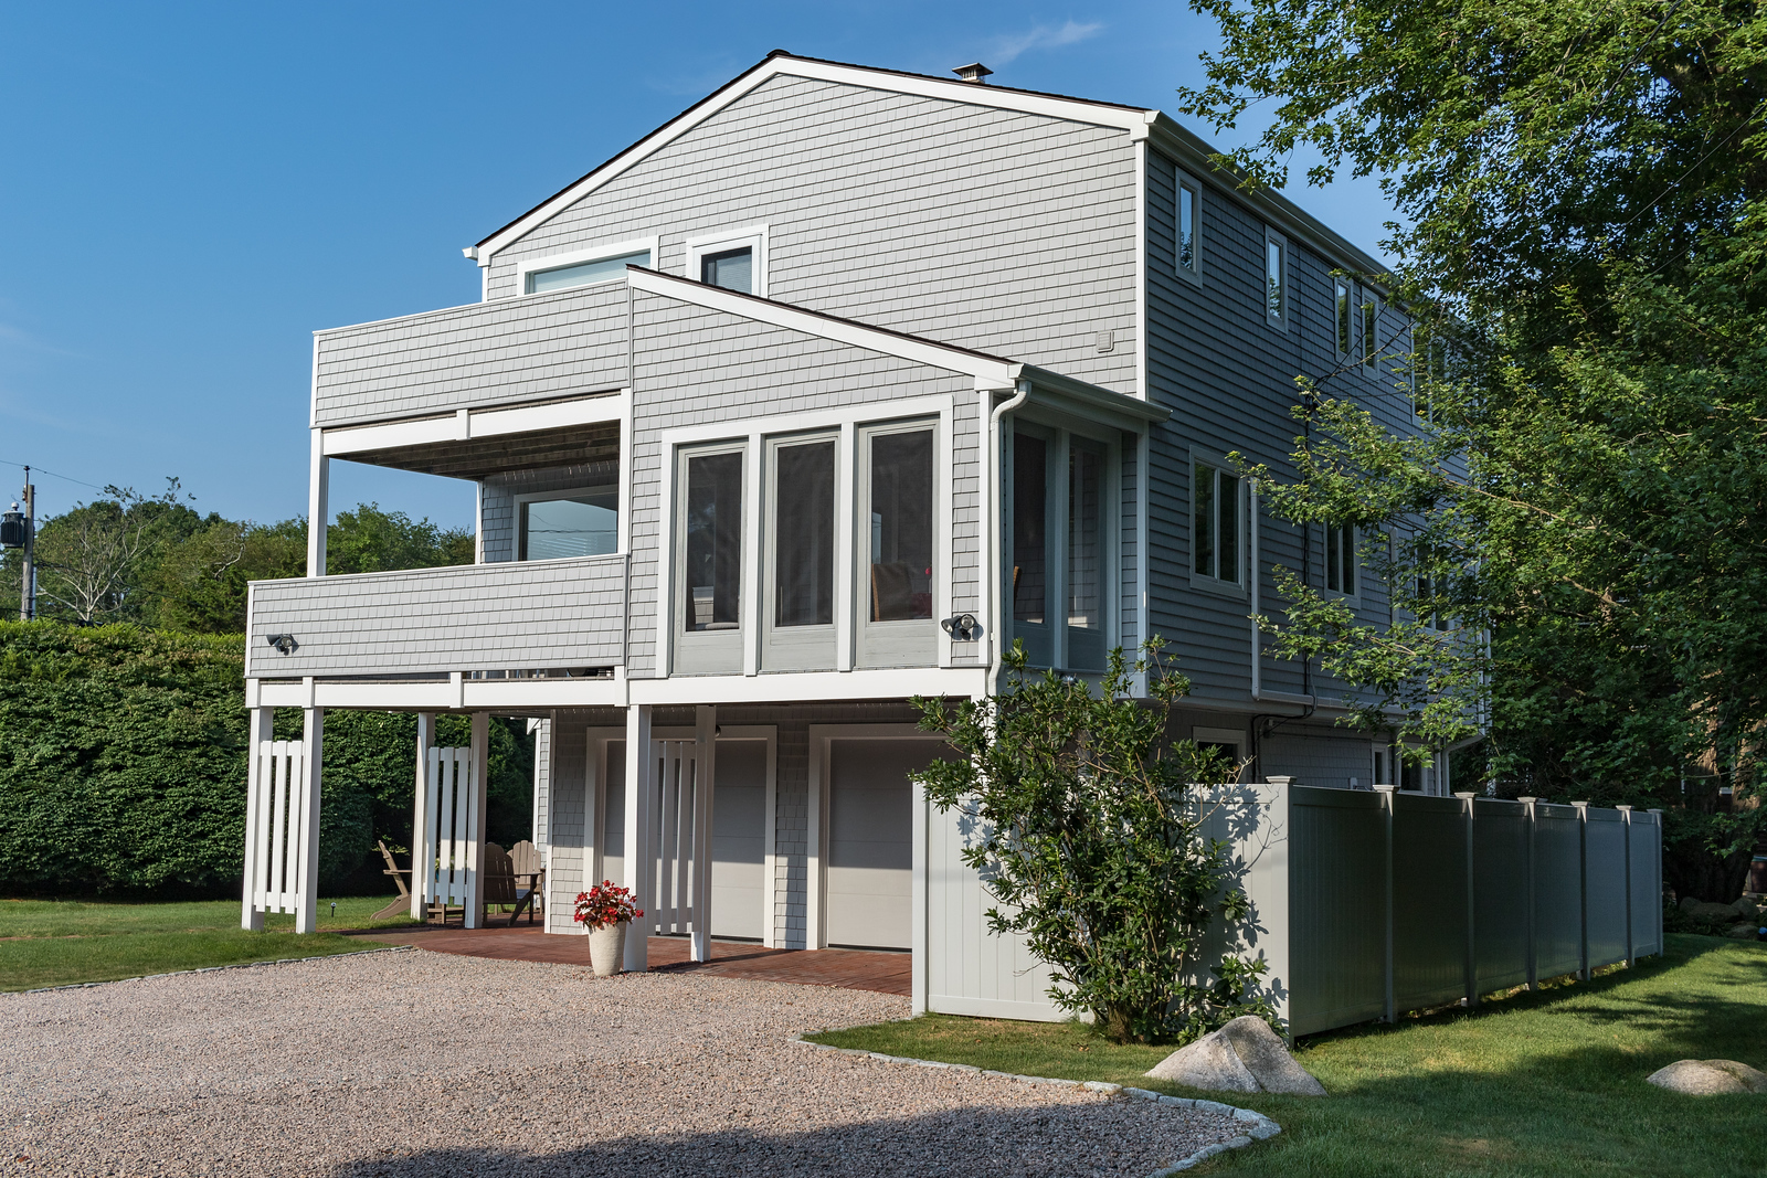
[[[320,931],[299,934],[290,915],[265,917],[262,933],[240,929],[239,901],[0,901],[0,991],[378,948],[339,933],[410,924],[369,920],[389,902],[346,897],[332,917],[330,901],[320,901]]]

